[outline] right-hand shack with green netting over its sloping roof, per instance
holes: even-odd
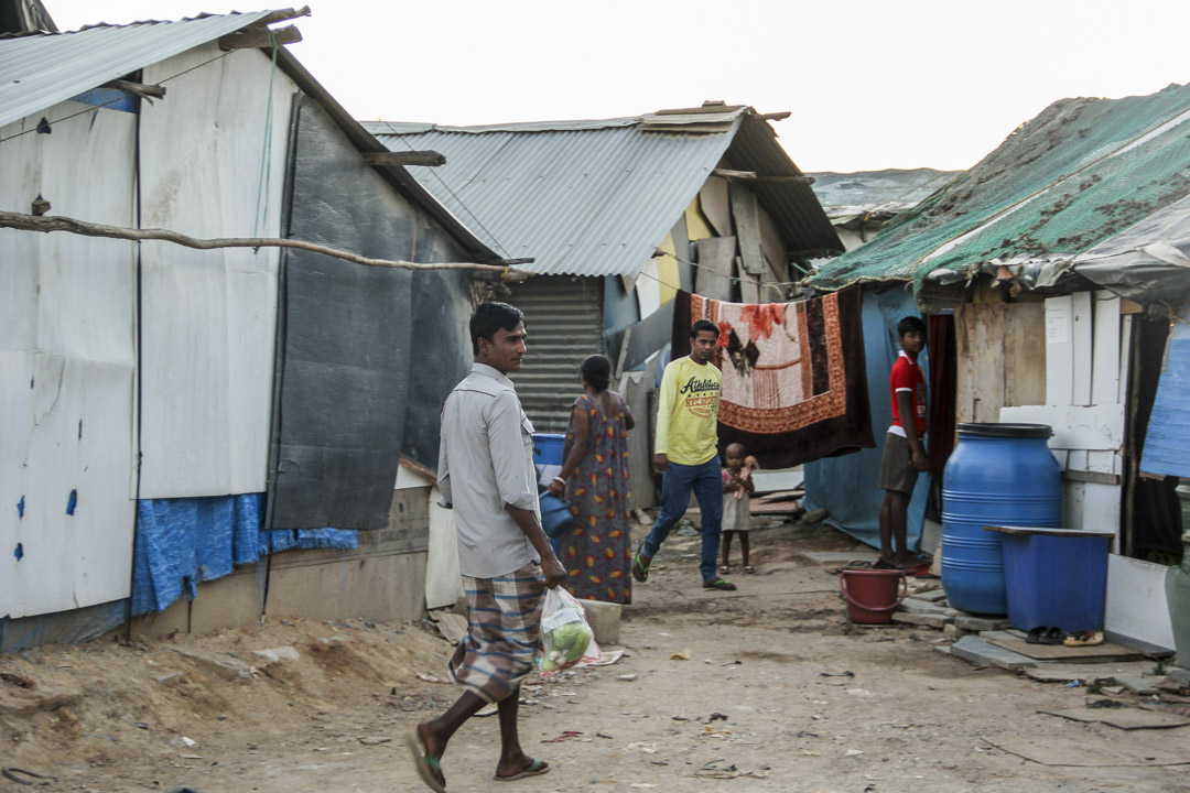
[[[1140,460],[1185,279],[1176,266],[1146,268],[1151,260],[1096,271],[1107,253],[1091,251],[1132,251],[1132,227],[1190,194],[1188,122],[1184,86],[1054,102],[808,282],[908,294],[929,316],[938,471],[956,422],[1053,427],[1064,525],[1115,534],[1107,629],[1161,647],[1172,647],[1161,580],[1180,555],[1180,517],[1176,480],[1141,477]],[[1163,233],[1169,247],[1169,228]],[[1122,287],[1129,282],[1145,288]],[[845,514],[831,487],[859,464],[815,464],[807,499]]]

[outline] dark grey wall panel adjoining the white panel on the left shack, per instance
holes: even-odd
[[[302,97],[299,113],[289,235],[412,258],[414,210],[315,102]],[[283,266],[269,524],[384,528],[406,423],[413,278],[302,251]]]

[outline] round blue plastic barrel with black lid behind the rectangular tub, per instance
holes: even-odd
[[[942,589],[956,609],[1008,613],[1001,535],[1061,525],[1061,470],[1047,424],[962,423],[942,473]]]

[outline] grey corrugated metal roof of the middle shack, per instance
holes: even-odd
[[[445,165],[414,169],[414,176],[496,251],[533,257],[527,269],[547,275],[638,276],[725,157],[733,168],[800,175],[771,127],[749,108],[607,121],[364,127],[393,151],[446,155]],[[754,189],[793,250],[843,250],[808,185]]]

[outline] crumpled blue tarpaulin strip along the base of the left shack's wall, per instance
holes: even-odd
[[[355,548],[356,531],[273,529],[264,524],[264,493],[203,498],[151,498],[137,505],[132,613],[162,611],[234,565],[294,548]]]

